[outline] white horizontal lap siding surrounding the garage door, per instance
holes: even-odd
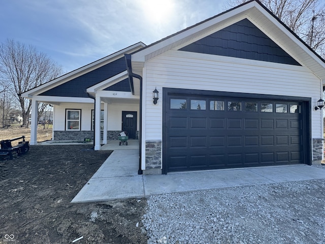
[[[321,97],[320,79],[300,66],[171,50],[146,62],[144,71],[145,140],[162,139],[163,87],[309,97],[312,107]],[[312,110],[312,137],[322,137],[319,110]]]

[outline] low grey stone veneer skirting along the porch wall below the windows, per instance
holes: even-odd
[[[118,140],[118,134],[121,131],[107,131],[107,140]],[[85,138],[93,140],[93,131],[54,131],[54,141],[83,141]],[[101,139],[103,139],[103,131],[101,131]],[[139,131],[136,131],[136,139],[139,139]]]

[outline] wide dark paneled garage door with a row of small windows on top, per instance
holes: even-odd
[[[165,90],[163,173],[304,163],[306,102],[237,95]]]

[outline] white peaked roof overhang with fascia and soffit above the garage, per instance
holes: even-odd
[[[248,19],[301,65],[325,80],[325,60],[256,0],[220,13],[132,53],[133,72],[141,74],[145,61],[170,49],[181,49],[243,19]]]

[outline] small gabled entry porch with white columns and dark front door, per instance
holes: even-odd
[[[140,96],[109,89],[125,80],[126,71],[87,88],[87,94],[94,99],[94,150],[100,150],[101,144],[109,144],[108,131],[126,131],[129,139],[138,137]]]

